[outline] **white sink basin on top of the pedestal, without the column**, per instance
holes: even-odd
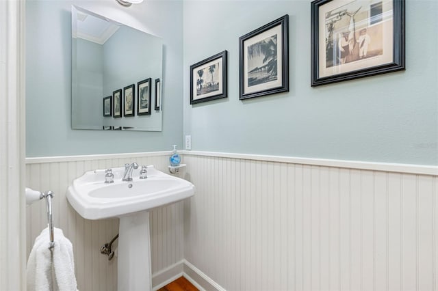
[[[85,219],[120,217],[133,212],[165,206],[194,195],[186,180],[148,167],[148,178],[134,171],[132,181],[122,181],[124,167],[112,169],[114,183],[105,184],[105,170],[88,171],[68,187],[67,199]]]

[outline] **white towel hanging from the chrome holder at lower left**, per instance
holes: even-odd
[[[49,227],[35,239],[27,260],[27,291],[76,291],[75,262],[70,240],[53,228],[55,241],[49,249]]]

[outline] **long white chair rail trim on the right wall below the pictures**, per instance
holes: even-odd
[[[398,163],[375,163],[364,161],[330,160],[324,158],[297,158],[292,156],[268,156],[261,154],[232,154],[226,152],[201,152],[192,150],[181,150],[181,154],[191,156],[216,156],[219,158],[240,158],[244,160],[268,161],[277,163],[294,163],[301,165],[315,165],[324,167],[341,167],[350,169],[365,169],[372,171],[389,171],[417,175],[438,175],[438,166],[432,165],[411,165]]]

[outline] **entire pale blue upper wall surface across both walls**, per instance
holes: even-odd
[[[407,0],[406,71],[315,88],[310,2],[27,1],[27,156],[168,150],[192,135],[192,150],[438,165],[438,1]],[[162,132],[70,129],[72,3],[163,38]],[[284,14],[290,92],[240,101],[239,37]],[[229,97],[191,106],[190,65],[224,50]]]

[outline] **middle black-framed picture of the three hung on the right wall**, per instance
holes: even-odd
[[[240,99],[289,91],[289,15],[239,38]]]

